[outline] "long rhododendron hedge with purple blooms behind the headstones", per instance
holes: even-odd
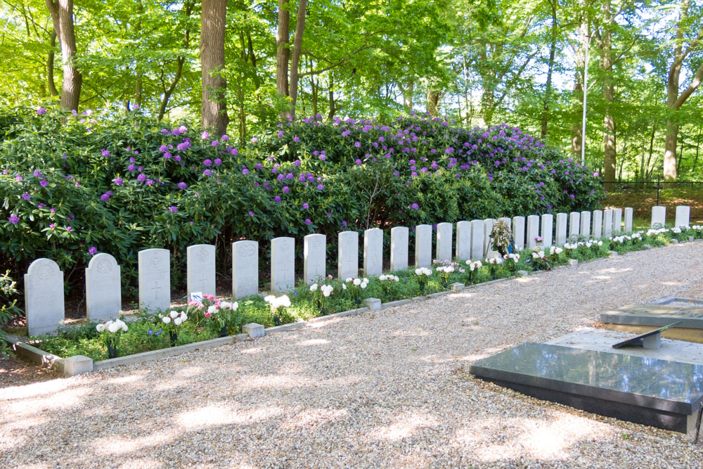
[[[507,124],[312,117],[241,145],[141,111],[41,111],[14,110],[0,146],[0,270],[13,276],[50,257],[76,281],[109,252],[134,283],[138,250],[159,247],[179,285],[195,243],[216,244],[226,271],[229,243],[257,240],[265,272],[276,236],[302,248],[309,233],[591,210],[603,195],[591,170]]]

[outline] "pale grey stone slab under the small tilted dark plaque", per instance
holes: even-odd
[[[576,349],[597,350],[614,354],[641,356],[643,358],[679,361],[693,365],[703,366],[703,344],[686,342],[685,340],[671,340],[662,338],[661,347],[658,349],[645,349],[643,347],[621,347],[614,349],[612,346],[618,342],[631,339],[636,334],[584,328],[567,335],[552,339],[546,343],[562,345]]]

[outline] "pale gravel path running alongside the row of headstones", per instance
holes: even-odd
[[[0,389],[0,467],[703,467],[683,435],[461,368],[702,297],[703,243],[473,288],[147,364]]]

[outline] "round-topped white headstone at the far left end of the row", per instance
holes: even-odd
[[[27,334],[56,332],[64,319],[63,272],[51,259],[37,259],[25,274]]]

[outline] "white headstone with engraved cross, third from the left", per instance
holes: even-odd
[[[171,307],[171,253],[167,249],[139,251],[139,309],[150,314]]]

